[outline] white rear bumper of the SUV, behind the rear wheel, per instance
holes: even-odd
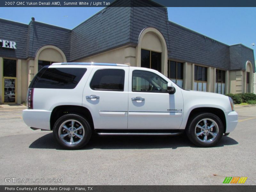
[[[51,130],[50,118],[52,111],[37,110],[37,109],[24,109],[22,117],[25,124],[29,127],[37,129]]]

